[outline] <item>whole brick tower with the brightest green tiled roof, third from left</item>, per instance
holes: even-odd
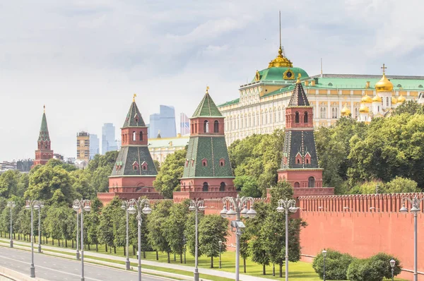
[[[224,135],[224,116],[206,94],[190,119],[190,140],[181,178],[182,198],[223,198],[237,193]]]

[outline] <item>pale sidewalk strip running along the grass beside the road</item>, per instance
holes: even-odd
[[[1,246],[5,245],[8,246],[8,239],[0,239],[0,244],[2,244]],[[29,242],[24,242],[24,241],[16,241],[16,246],[18,246],[18,244],[21,245],[28,245],[30,246]],[[15,244],[14,244],[15,245]],[[16,247],[17,248],[17,247]],[[54,254],[57,256],[66,256],[67,258],[69,258],[69,255],[61,255],[60,253],[55,253],[49,250],[53,250],[53,251],[61,251],[64,253],[75,253],[76,250],[74,249],[64,249],[64,248],[59,248],[59,247],[52,247],[52,246],[46,246],[46,245],[42,245],[42,251],[43,252],[48,252],[49,254]],[[96,257],[96,258],[107,258],[113,261],[120,261],[122,262],[121,267],[124,269],[124,265],[125,265],[125,257],[119,257],[119,256],[112,256],[112,255],[107,255],[105,253],[95,253],[95,252],[88,252],[85,251],[84,252],[84,260],[85,261],[95,261],[95,263],[101,263],[104,265],[113,265],[114,267],[120,267],[119,264],[116,263],[108,263],[106,261],[99,261],[99,260],[95,260],[95,259],[90,259],[90,257]],[[138,263],[138,260],[136,258],[130,258],[129,261],[131,263]],[[143,265],[152,265],[152,266],[158,266],[161,268],[172,268],[172,269],[176,269],[176,270],[184,270],[187,272],[193,272],[194,271],[194,267],[192,266],[187,266],[187,265],[178,265],[175,263],[160,263],[157,261],[146,261],[146,260],[142,260],[141,261],[141,268],[143,268]],[[142,269],[145,272],[154,272],[154,273],[158,273],[161,274],[163,273],[163,271],[157,271],[157,270],[147,270],[147,269]],[[213,270],[213,269],[208,269],[208,268],[199,268],[199,273],[201,274],[207,274],[207,275],[213,275],[213,276],[218,276],[218,277],[225,277],[225,278],[229,278],[229,279],[234,279],[235,277],[235,273],[228,273],[225,271],[220,271],[220,270]],[[167,273],[167,275],[169,275],[170,277],[172,275],[175,275],[174,273]],[[184,278],[184,280],[192,280],[192,278],[184,276],[184,275],[178,275],[178,276],[174,276],[174,277],[178,277],[178,278]],[[242,281],[269,281],[269,279],[266,278],[261,278],[261,277],[256,277],[256,276],[250,276],[250,275],[244,275],[244,274],[240,274],[240,280]]]

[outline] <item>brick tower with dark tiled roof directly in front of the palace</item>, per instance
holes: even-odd
[[[312,106],[300,78],[285,109],[285,139],[278,181],[294,188],[322,187],[322,170],[315,148]]]

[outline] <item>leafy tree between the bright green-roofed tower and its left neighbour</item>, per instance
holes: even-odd
[[[184,172],[184,163],[187,150],[177,150],[175,153],[167,155],[165,162],[160,166],[160,171],[153,187],[159,191],[163,197],[172,198],[173,191],[180,190],[179,179]]]

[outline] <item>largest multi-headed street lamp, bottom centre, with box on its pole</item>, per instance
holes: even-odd
[[[247,201],[250,202],[250,209],[247,210]],[[227,210],[226,202],[229,202],[230,210]],[[240,235],[242,235],[242,229],[245,228],[245,224],[240,220],[242,217],[254,218],[257,213],[253,210],[253,198],[243,196],[237,197],[225,197],[223,198],[223,210],[220,211],[221,217],[227,217],[235,220],[231,221],[231,228],[235,227],[235,281],[239,281],[240,271]]]

